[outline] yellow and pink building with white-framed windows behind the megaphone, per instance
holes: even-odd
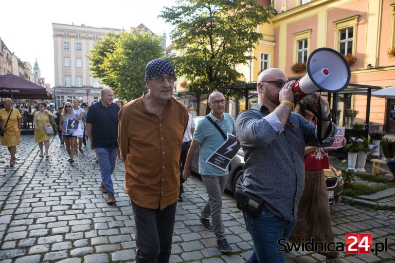
[[[264,37],[254,52],[258,60],[252,67],[253,81],[262,69],[260,54],[267,52],[268,67],[278,67],[292,78],[306,74],[306,71],[293,72],[291,67],[295,63],[306,63],[313,50],[329,47],[356,59],[350,66],[353,86],[361,89],[395,86],[395,58],[387,55],[388,49],[395,47],[395,0],[272,0],[271,3],[278,14],[272,17],[271,25],[258,27]],[[358,110],[356,122],[365,122],[366,98],[355,93],[338,95],[337,108],[342,110],[340,125],[345,124],[347,109]],[[371,123],[394,133],[394,113],[395,100],[371,98]]]

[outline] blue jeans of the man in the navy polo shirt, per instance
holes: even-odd
[[[114,172],[115,159],[118,154],[118,147],[113,148],[96,148],[97,159],[99,161],[101,184],[104,185],[105,190],[109,196],[114,195],[113,181],[111,174]]]

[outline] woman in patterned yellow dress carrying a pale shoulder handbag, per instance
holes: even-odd
[[[47,104],[39,102],[39,111],[34,114],[34,141],[39,143],[40,157],[43,157],[43,142],[45,144],[45,158],[49,158],[49,139],[50,135],[45,133],[44,125],[50,126],[49,118],[56,119],[56,115],[46,109]]]

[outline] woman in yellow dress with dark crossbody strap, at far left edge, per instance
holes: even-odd
[[[4,132],[2,136],[2,145],[8,147],[11,154],[10,166],[15,165],[16,146],[21,142],[21,112],[12,109],[12,100],[7,98],[3,100],[4,109],[0,109],[0,128]],[[11,111],[12,109],[12,111]],[[11,114],[11,115],[10,115]],[[10,115],[10,119],[7,119]],[[7,126],[6,126],[7,123]]]

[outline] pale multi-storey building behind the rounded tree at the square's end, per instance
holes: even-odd
[[[53,49],[55,63],[55,96],[56,106],[63,105],[67,98],[79,99],[91,104],[100,99],[101,89],[106,87],[98,78],[94,78],[90,70],[87,56],[109,32],[120,33],[125,29],[97,28],[82,25],[52,23]],[[135,28],[130,28],[133,30]],[[136,27],[138,31],[149,30],[145,25]],[[128,31],[128,30],[127,30]],[[150,30],[149,30],[150,31]],[[152,33],[152,32],[151,32]],[[153,33],[152,33],[153,34]],[[155,34],[162,37],[160,45],[166,47],[166,34]]]

